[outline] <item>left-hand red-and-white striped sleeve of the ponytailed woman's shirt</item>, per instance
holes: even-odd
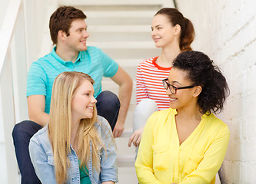
[[[140,103],[142,99],[148,98],[148,91],[145,86],[143,74],[141,72],[141,63],[138,64],[136,74],[136,103]]]

